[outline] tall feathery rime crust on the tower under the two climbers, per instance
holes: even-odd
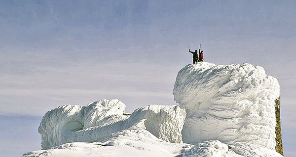
[[[176,78],[175,101],[186,109],[186,143],[247,142],[275,149],[275,99],[279,83],[251,64],[185,66]]]

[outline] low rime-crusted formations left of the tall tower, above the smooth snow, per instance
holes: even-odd
[[[41,146],[49,149],[70,142],[100,142],[112,133],[133,128],[141,121],[159,139],[182,142],[185,109],[179,106],[149,105],[137,109],[130,118],[118,100],[102,100],[87,106],[62,105],[48,111],[40,123]],[[144,123],[144,122],[143,122]]]

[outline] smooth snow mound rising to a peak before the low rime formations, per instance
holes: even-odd
[[[34,151],[23,157],[175,157],[188,144],[163,141],[145,129],[145,120],[100,142],[75,142]]]

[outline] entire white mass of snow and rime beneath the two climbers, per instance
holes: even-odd
[[[282,157],[274,150],[279,84],[263,68],[186,65],[173,94],[180,106],[130,116],[119,100],[52,109],[38,129],[46,150],[23,157]]]

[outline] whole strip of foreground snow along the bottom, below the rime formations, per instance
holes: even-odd
[[[67,143],[49,150],[28,152],[23,157],[283,157],[256,145],[236,145],[218,140],[196,145],[169,143],[140,129],[116,132],[102,142]]]

